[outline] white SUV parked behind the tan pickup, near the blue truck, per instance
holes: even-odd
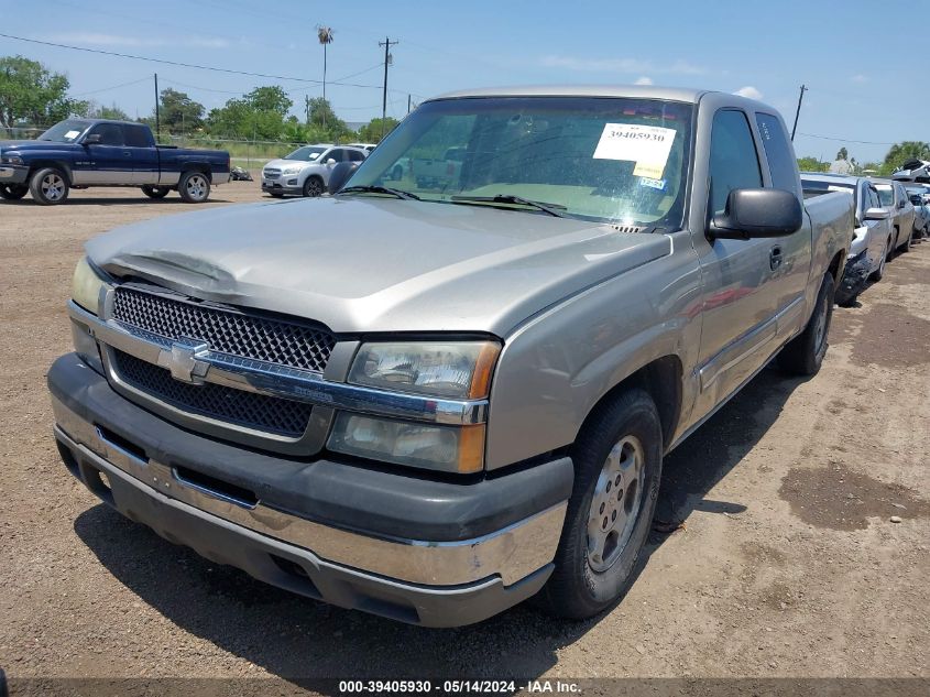
[[[349,145],[304,145],[262,167],[262,190],[275,198],[320,196],[329,186],[329,174],[340,162],[362,162],[366,152]]]

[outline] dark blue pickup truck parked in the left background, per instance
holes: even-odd
[[[157,145],[147,126],[131,121],[67,119],[36,140],[0,141],[0,197],[32,193],[46,206],[89,186],[139,186],[150,198],[176,190],[200,204],[229,171],[228,152]]]

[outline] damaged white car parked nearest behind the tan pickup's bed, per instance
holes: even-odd
[[[801,172],[805,198],[828,192],[846,192],[855,200],[855,230],[846,255],[843,281],[836,288],[836,302],[852,303],[866,281],[880,281],[885,263],[894,249],[891,214],[882,205],[875,184],[865,177],[843,174]]]

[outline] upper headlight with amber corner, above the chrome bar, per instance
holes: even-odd
[[[438,397],[483,399],[500,352],[495,341],[363,344],[349,382]]]

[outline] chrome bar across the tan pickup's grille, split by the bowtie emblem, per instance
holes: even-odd
[[[143,329],[103,320],[68,302],[68,314],[86,325],[95,338],[155,366],[169,363],[172,341]],[[445,400],[385,392],[326,380],[320,373],[217,351],[198,352],[203,364],[196,379],[237,390],[309,402],[319,406],[407,418],[436,424],[472,425],[488,420],[488,400]],[[199,374],[201,373],[203,374]]]

